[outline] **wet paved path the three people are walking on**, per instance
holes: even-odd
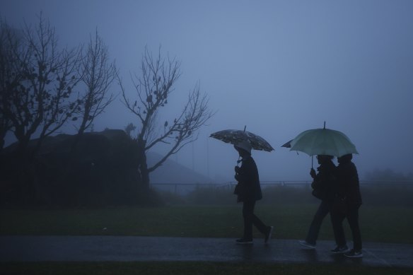
[[[230,238],[135,236],[0,236],[1,262],[37,261],[209,261],[363,264],[413,268],[413,245],[365,242],[364,257],[330,254],[332,241],[305,250],[297,240],[273,239],[264,245],[236,245]]]

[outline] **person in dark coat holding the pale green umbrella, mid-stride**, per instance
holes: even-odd
[[[310,176],[313,177],[311,187],[313,187],[313,196],[320,199],[321,203],[318,206],[317,212],[310,224],[306,240],[298,241],[300,245],[308,249],[315,249],[315,245],[320,232],[320,227],[325,216],[330,212],[332,201],[335,197],[335,169],[336,166],[332,162],[333,156],[318,155],[318,166],[316,173],[313,168],[310,170]]]

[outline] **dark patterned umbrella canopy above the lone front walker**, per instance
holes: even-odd
[[[271,145],[261,136],[252,134],[250,131],[227,129],[222,131],[216,131],[211,136],[214,139],[226,142],[227,144],[238,144],[240,141],[249,141],[252,149],[271,152],[274,150]]]

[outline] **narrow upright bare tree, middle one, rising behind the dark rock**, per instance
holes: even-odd
[[[81,82],[86,90],[78,101],[78,116],[81,118],[74,147],[84,131],[91,127],[93,120],[112,103],[114,96],[109,93],[112,82],[117,78],[115,62],[110,62],[107,46],[98,35],[90,38],[86,53],[81,62]]]

